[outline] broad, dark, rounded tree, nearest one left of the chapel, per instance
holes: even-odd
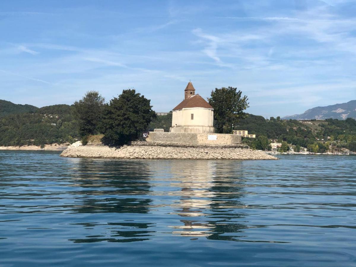
[[[134,89],[123,90],[118,98],[105,107],[100,126],[101,133],[110,145],[122,145],[136,140],[156,117],[151,100]]]

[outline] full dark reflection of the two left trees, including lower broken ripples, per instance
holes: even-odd
[[[155,231],[148,230],[153,223],[125,222],[124,214],[145,214],[150,210],[152,200],[150,171],[145,161],[77,159],[71,168],[71,181],[78,203],[70,206],[74,213],[96,214],[118,213],[116,222],[76,223],[85,229],[95,229],[99,235],[69,239],[82,242],[133,242],[150,239]],[[110,217],[112,218],[112,217]],[[104,235],[103,235],[104,233]]]

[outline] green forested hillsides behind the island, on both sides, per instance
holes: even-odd
[[[9,104],[10,109],[5,110],[5,113],[20,112],[20,110],[25,113],[0,117],[0,146],[72,143],[80,138],[73,106],[52,105],[36,108],[21,105],[23,109],[20,109],[21,107],[11,104]],[[157,116],[148,128],[169,131],[171,124],[172,113],[169,113],[166,116]],[[256,134],[256,139],[246,138],[245,142],[257,149],[266,147],[269,139],[306,147],[314,152],[324,152],[329,147],[356,151],[356,121],[351,118],[297,121],[271,117],[267,120],[262,116],[248,114],[245,119],[234,125],[235,130],[248,130],[249,133]]]

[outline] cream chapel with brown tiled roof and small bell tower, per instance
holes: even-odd
[[[171,132],[214,133],[214,109],[191,82],[184,90],[184,100],[173,110]]]

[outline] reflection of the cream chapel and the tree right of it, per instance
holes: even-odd
[[[171,226],[173,234],[216,240],[237,240],[236,234],[246,225],[235,219],[246,214],[239,200],[244,191],[241,162],[238,161],[177,161],[172,167],[179,180],[179,202],[174,213],[185,217],[182,225]],[[172,186],[177,186],[176,183]],[[188,219],[191,218],[191,219]]]

